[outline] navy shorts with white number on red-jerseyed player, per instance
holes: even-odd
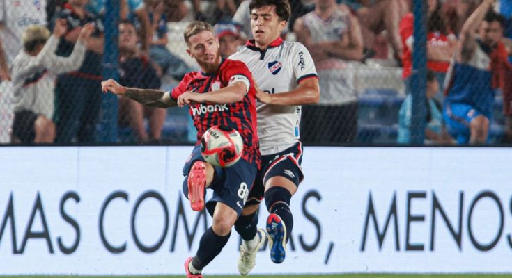
[[[201,156],[201,147],[199,145],[194,147],[192,154],[190,154],[183,167],[183,175],[185,176],[185,180],[183,181],[183,193],[185,197],[188,197],[188,173],[196,161],[205,161],[203,156]],[[247,201],[247,196],[254,183],[254,179],[256,178],[258,168],[256,165],[252,165],[243,159],[240,159],[230,167],[222,168],[214,166],[213,168],[215,169],[215,177],[212,184],[208,187],[213,190],[213,195],[212,198],[208,199],[206,202],[208,213],[213,215],[215,205],[217,202],[221,202],[233,208],[237,215],[240,215]]]

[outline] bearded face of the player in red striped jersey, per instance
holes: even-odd
[[[187,53],[201,67],[210,69],[220,63],[219,40],[210,31],[202,31],[189,38]]]

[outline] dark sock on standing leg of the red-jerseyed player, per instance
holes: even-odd
[[[202,270],[220,253],[224,245],[228,243],[230,235],[231,232],[226,236],[219,236],[215,234],[212,227],[206,230],[199,241],[199,249],[194,259],[192,259],[192,266],[196,270]]]

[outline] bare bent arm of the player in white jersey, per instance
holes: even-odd
[[[317,78],[302,81],[295,90],[279,94],[267,94],[259,88],[256,89],[256,98],[264,104],[274,105],[302,105],[316,104],[320,100],[320,88]]]

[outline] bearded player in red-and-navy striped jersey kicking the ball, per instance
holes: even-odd
[[[205,188],[214,190],[206,203],[213,224],[199,243],[194,257],[185,261],[188,278],[201,278],[201,270],[217,256],[228,242],[256,177],[261,156],[256,132],[256,90],[251,72],[244,63],[220,57],[219,40],[212,26],[192,22],[185,29],[187,53],[201,67],[200,72],[186,74],[171,92],[125,88],[109,79],[102,82],[104,92],[125,95],[154,107],[189,105],[189,113],[198,131],[197,143],[187,159],[183,174],[183,192],[194,211],[201,211]],[[214,167],[201,156],[201,136],[211,126],[236,129],[242,136],[242,159],[230,167]]]

